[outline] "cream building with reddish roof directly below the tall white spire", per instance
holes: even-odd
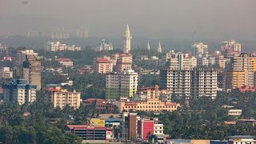
[[[115,71],[130,70],[132,66],[132,56],[128,53],[119,54],[115,66]]]

